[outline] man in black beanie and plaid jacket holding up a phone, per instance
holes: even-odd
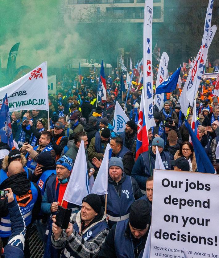
[[[72,214],[67,229],[62,230],[55,222],[56,216],[53,216],[52,245],[58,249],[64,247],[62,257],[97,257],[109,234],[106,215],[97,194],[83,198],[81,211]]]

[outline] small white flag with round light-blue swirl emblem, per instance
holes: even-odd
[[[127,121],[129,121],[129,118],[117,101],[113,119],[113,131],[117,134],[124,132]]]

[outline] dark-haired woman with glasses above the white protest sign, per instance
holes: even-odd
[[[197,169],[197,163],[196,163],[196,156],[193,149],[193,146],[190,142],[185,141],[181,143],[180,149],[176,151],[176,154],[174,155],[174,159],[178,159],[180,157],[184,157],[189,162],[189,171],[195,172]]]

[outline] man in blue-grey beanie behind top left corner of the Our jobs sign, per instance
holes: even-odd
[[[153,175],[153,169],[155,168],[156,146],[158,147],[165,169],[171,169],[171,156],[169,152],[164,151],[164,140],[160,137],[155,137],[149,150],[138,156],[131,172],[131,176],[136,179],[144,194],[146,194],[146,180],[149,176]]]

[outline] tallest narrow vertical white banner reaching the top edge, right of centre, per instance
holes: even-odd
[[[145,103],[146,127],[156,126],[153,115],[153,72],[152,72],[152,19],[153,0],[145,1],[144,6],[144,29],[143,29],[143,82]]]

